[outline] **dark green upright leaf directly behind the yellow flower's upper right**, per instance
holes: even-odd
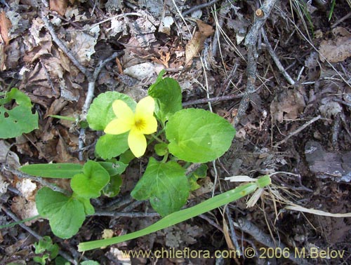
[[[147,93],[156,100],[155,114],[162,123],[182,109],[182,89],[174,79],[166,77],[154,83]]]

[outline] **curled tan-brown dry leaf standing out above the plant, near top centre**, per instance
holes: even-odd
[[[201,20],[197,20],[199,31],[195,32],[191,41],[185,47],[185,64],[188,64],[204,48],[204,41],[214,32],[211,25],[207,25]]]

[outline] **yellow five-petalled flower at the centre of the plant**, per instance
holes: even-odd
[[[109,135],[120,135],[129,132],[128,146],[135,157],[143,156],[146,150],[146,139],[144,135],[150,135],[157,131],[157,120],[154,117],[154,99],[150,96],[144,97],[131,110],[126,102],[115,100],[112,109],[117,118],[107,124],[105,133]]]

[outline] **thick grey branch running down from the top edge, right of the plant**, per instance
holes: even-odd
[[[245,46],[247,47],[247,84],[246,90],[244,92],[244,96],[241,99],[237,116],[235,116],[232,125],[237,127],[240,119],[246,113],[246,109],[249,107],[249,103],[251,100],[251,95],[256,90],[256,72],[257,72],[257,62],[256,59],[258,57],[256,45],[258,40],[258,34],[260,33],[260,29],[263,27],[265,21],[267,20],[270,12],[272,11],[274,4],[277,0],[266,0],[263,3],[263,6],[256,11],[255,22],[253,23],[249,33],[246,35]]]

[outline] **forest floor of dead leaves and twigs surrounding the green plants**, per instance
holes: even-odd
[[[184,107],[211,109],[237,131],[225,155],[208,163],[185,208],[239,185],[225,177],[271,175],[270,189],[250,208],[241,198],[84,253],[77,252],[78,243],[138,231],[160,217],[91,215],[66,240],[53,235],[46,219],[6,226],[0,264],[34,264],[37,236],[51,236],[74,264],[351,263],[350,0],[204,2],[1,0],[0,92],[15,87],[28,95],[39,129],[0,140],[0,226],[37,215],[34,198],[42,183],[16,174],[21,165],[95,159],[97,132],[86,129],[81,149],[77,123],[49,115],[79,117],[88,90],[84,70],[93,71],[115,52],[95,80],[95,97],[117,91],[138,102],[165,69],[180,83]],[[95,209],[153,212],[148,201],[130,196],[146,165],[146,158],[133,160],[119,195],[94,199]],[[256,256],[214,256],[235,246]],[[277,247],[289,259],[279,259]],[[121,254],[185,249],[194,250],[193,257]]]

